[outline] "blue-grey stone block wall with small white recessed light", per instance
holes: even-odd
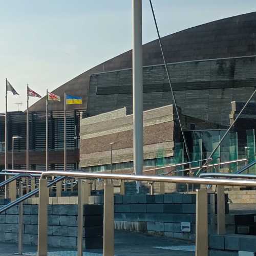
[[[89,203],[102,204],[103,197],[91,196]],[[182,232],[181,222],[190,222],[191,231]],[[194,241],[195,223],[196,194],[115,196],[115,229]]]

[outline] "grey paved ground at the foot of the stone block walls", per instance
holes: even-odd
[[[156,248],[156,247],[164,247]],[[171,248],[168,248],[171,247]],[[165,237],[147,236],[134,232],[116,231],[115,232],[115,255],[116,256],[194,256],[193,244],[182,240],[170,239]],[[187,251],[190,250],[190,251]],[[191,251],[192,250],[192,251]],[[24,255],[36,255],[36,247],[24,246]],[[62,252],[58,252],[62,251]],[[26,253],[27,252],[27,253]],[[17,253],[16,244],[0,243],[0,256],[13,256]],[[16,254],[17,255],[17,254]],[[49,248],[49,256],[76,256],[72,250]],[[100,256],[102,250],[89,250],[85,256]]]

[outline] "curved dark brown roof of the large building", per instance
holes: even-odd
[[[163,49],[168,63],[230,58],[256,55],[256,12],[216,20],[193,28],[167,35],[162,38]],[[143,45],[143,65],[163,63],[158,40]],[[132,50],[107,60],[80,74],[53,93],[63,97],[64,92],[82,95],[82,105],[70,105],[69,109],[85,109],[88,102],[90,75],[101,72],[132,68]],[[44,111],[42,98],[30,106],[31,111]],[[62,110],[63,104],[53,102],[51,110]]]

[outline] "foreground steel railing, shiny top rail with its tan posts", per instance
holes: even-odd
[[[93,173],[78,173],[78,172],[55,172],[49,171],[41,174],[39,181],[39,215],[38,215],[38,256],[47,255],[47,180],[48,176],[73,177],[81,179],[116,179],[116,180],[134,180],[134,181],[149,181],[149,182],[166,182],[166,183],[188,183],[188,184],[205,184],[217,185],[219,188],[218,199],[224,202],[224,187],[223,186],[256,186],[254,180],[231,180],[231,179],[212,179],[212,178],[194,178],[194,177],[162,177],[162,176],[137,176],[123,174],[93,174]],[[223,189],[220,189],[223,188]],[[78,190],[78,198],[82,189]],[[114,255],[114,190],[113,184],[104,184],[104,230],[103,230],[103,255]],[[82,252],[82,200],[78,200],[78,256]],[[220,207],[218,207],[219,209]],[[224,222],[225,212],[218,212],[222,218],[220,222]],[[205,256],[208,251],[208,216],[207,216],[207,190],[197,190],[197,211],[196,211],[196,256]],[[199,232],[200,229],[200,232]],[[223,230],[218,228],[218,230]],[[199,246],[200,243],[200,246]]]

